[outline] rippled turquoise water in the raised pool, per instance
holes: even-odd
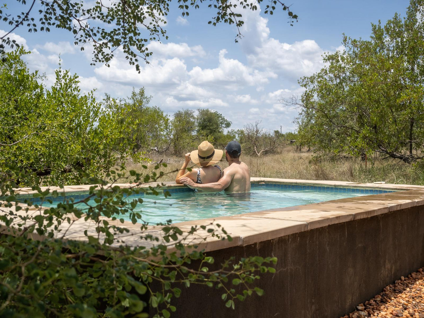
[[[314,190],[281,190],[270,187],[253,187],[248,196],[228,195],[218,193],[181,192],[172,193],[170,197],[163,195],[143,195],[143,203],[137,204],[135,210],[141,212],[143,220],[149,223],[173,223],[220,216],[237,215],[274,209],[286,206],[311,204],[322,201],[351,198],[370,193],[358,192],[323,192]],[[131,196],[129,199],[137,197]],[[95,205],[94,201],[90,202]],[[57,203],[43,203],[43,206],[56,206]],[[81,209],[86,205],[81,204]],[[119,218],[129,220],[128,216]]]

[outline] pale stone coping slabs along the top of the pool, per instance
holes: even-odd
[[[185,221],[175,223],[183,232],[188,232],[192,226],[208,225],[210,223],[219,223],[229,234],[233,240],[218,240],[215,237],[207,236],[207,232],[200,230],[195,238],[190,240],[191,244],[196,244],[199,249],[205,251],[214,251],[222,248],[234,246],[245,246],[266,240],[272,240],[297,232],[308,231],[318,227],[329,226],[335,223],[343,223],[361,218],[369,218],[374,215],[380,215],[405,209],[413,206],[424,205],[424,186],[405,185],[405,184],[370,184],[370,183],[353,183],[344,181],[315,181],[315,180],[292,180],[292,179],[273,179],[273,178],[251,178],[253,183],[265,184],[298,184],[298,185],[316,185],[326,187],[347,187],[347,188],[368,188],[368,189],[384,189],[384,190],[403,190],[398,192],[365,195],[353,198],[344,198],[332,201],[325,201],[316,204],[307,204],[301,206],[291,206],[285,208],[277,208],[270,210],[262,210],[250,212],[241,215],[232,215],[219,218],[208,218],[203,220]],[[156,186],[158,183],[145,184],[142,187]],[[160,184],[160,183],[159,183]],[[131,187],[134,184],[116,184],[120,187]],[[42,190],[57,190],[58,192],[66,192],[67,195],[75,192],[88,192],[91,185],[81,186],[65,186],[64,189],[59,187],[43,187]],[[164,183],[163,189],[172,189],[184,187],[174,182]],[[30,188],[17,189],[16,193],[22,197],[32,195],[36,191]],[[22,204],[25,206],[25,204]],[[0,210],[4,207],[0,207]],[[18,213],[25,213],[20,210]],[[33,206],[29,212],[39,213]],[[107,219],[107,218],[105,218]],[[129,221],[120,223],[120,221],[110,221],[109,223],[126,227],[130,230],[127,234],[120,234],[118,238],[126,245],[151,245],[153,243],[140,240],[140,225],[132,224]],[[66,224],[64,225],[66,226]],[[94,235],[94,223],[85,222],[84,218],[75,220],[71,228],[63,237],[65,240],[86,240],[84,230],[87,229],[89,235]],[[0,223],[0,232],[9,233],[3,223]],[[161,237],[162,231],[158,226],[151,226],[149,233]],[[146,234],[146,232],[143,232]],[[61,237],[58,232],[56,237]],[[36,238],[36,237],[34,237]],[[38,237],[37,237],[38,238]],[[156,243],[157,244],[157,243]],[[117,244],[119,245],[119,244]],[[169,245],[169,244],[167,244]]]

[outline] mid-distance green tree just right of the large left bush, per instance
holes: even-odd
[[[148,106],[151,96],[145,94],[142,87],[138,92],[133,91],[127,99],[115,99],[106,94],[103,105],[112,113],[121,116],[126,134],[134,142],[134,152],[166,151],[170,146],[171,131],[169,117],[162,109]]]

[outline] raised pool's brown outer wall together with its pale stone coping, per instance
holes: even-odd
[[[424,187],[252,178],[254,183],[402,190],[216,218],[233,241],[199,241],[215,262],[231,256],[278,258],[276,273],[257,283],[264,295],[228,309],[220,290],[191,286],[175,300],[173,317],[340,317],[424,265]],[[122,185],[129,186],[129,185]],[[87,191],[89,186],[65,187]],[[167,188],[181,187],[167,184]],[[30,195],[22,189],[21,194]],[[22,211],[22,210],[21,210]],[[213,219],[178,223],[181,229]],[[67,239],[84,239],[84,221]],[[126,222],[132,233],[139,225]],[[7,229],[2,226],[2,231]],[[155,229],[152,230],[156,231]],[[130,232],[130,233],[131,233]],[[139,245],[137,235],[123,237]]]

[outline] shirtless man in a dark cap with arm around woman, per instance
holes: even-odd
[[[217,182],[198,184],[187,177],[181,178],[180,182],[192,189],[207,192],[222,190],[229,193],[250,192],[249,167],[240,161],[240,154],[240,144],[237,141],[230,141],[225,147],[225,159],[228,161],[228,167],[223,170],[222,177]]]

